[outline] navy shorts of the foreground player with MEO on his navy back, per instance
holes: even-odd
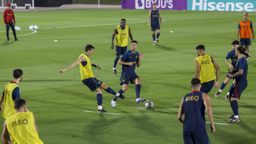
[[[206,132],[183,132],[184,144],[196,143],[207,144],[211,143],[210,138]]]

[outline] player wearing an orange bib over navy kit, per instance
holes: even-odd
[[[252,40],[254,39],[254,29],[252,26],[252,21],[248,20],[248,13],[244,13],[244,19],[239,21],[238,23],[238,30],[237,30],[237,41],[239,41],[239,34],[240,35],[240,45],[246,46],[246,49],[249,52],[249,45],[251,45],[251,31],[252,31]],[[246,60],[248,56],[245,56]],[[249,62],[249,61],[248,61]]]

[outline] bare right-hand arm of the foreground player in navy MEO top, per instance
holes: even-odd
[[[215,131],[214,123],[213,123],[213,114],[212,114],[212,108],[210,104],[210,96],[206,93],[203,93],[203,100],[204,100],[204,106],[207,111],[207,115],[211,122],[211,132],[213,133]]]

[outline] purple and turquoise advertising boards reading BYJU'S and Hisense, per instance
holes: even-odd
[[[256,0],[122,0],[122,9],[255,12]]]

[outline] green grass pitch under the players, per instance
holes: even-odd
[[[12,81],[13,69],[23,70],[19,84],[21,97],[33,111],[39,138],[45,143],[182,143],[182,123],[177,114],[181,99],[191,91],[190,79],[195,77],[195,47],[205,45],[206,54],[217,61],[221,84],[228,69],[225,58],[232,50],[231,42],[236,39],[243,12],[161,10],[163,20],[167,21],[163,21],[159,45],[153,45],[147,26],[148,12],[109,9],[15,12],[17,26],[23,30],[17,31],[17,35],[33,33],[28,30],[30,25],[39,29],[35,34],[18,36],[20,42],[13,37],[7,42],[5,27],[0,27],[0,90]],[[255,16],[256,13],[249,13],[253,26],[256,26]],[[126,99],[118,99],[116,108],[110,103],[114,95],[103,91],[103,108],[121,115],[86,113],[85,110],[97,111],[96,92],[81,82],[79,66],[63,74],[58,70],[68,67],[84,52],[86,44],[92,44],[95,50],[90,60],[102,68],[92,68],[94,77],[115,91],[120,90],[122,67],[118,65],[117,74],[113,74],[116,56],[110,47],[114,28],[122,18],[138,41],[137,51],[144,53],[141,67],[135,72],[141,79],[141,98],[153,101],[154,108],[145,109],[144,103],[135,103],[135,85],[130,84],[124,93]],[[9,33],[12,36],[12,31]],[[255,41],[251,41],[249,49],[252,58],[249,58],[248,86],[238,100],[241,122],[215,124],[213,134],[210,124],[206,124],[212,143],[255,143]],[[226,124],[227,116],[233,114],[229,101],[225,100],[230,85],[218,98],[214,93],[219,89],[213,88],[209,93],[215,123]],[[1,118],[0,130],[3,122]]]

